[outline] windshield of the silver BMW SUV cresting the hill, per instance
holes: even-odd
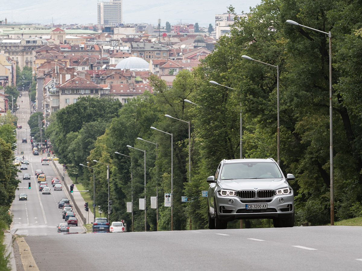
[[[282,178],[282,173],[275,163],[270,162],[245,162],[224,164],[220,179],[264,179]]]

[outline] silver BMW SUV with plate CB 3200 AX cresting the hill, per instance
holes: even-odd
[[[273,219],[274,227],[294,226],[294,192],[274,159],[222,160],[209,176],[209,229],[226,229],[235,219]]]

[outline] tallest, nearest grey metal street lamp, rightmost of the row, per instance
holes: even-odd
[[[329,165],[330,165],[330,186],[331,186],[331,226],[334,225],[334,195],[333,195],[333,120],[332,120],[332,32],[324,32],[314,29],[305,25],[301,25],[295,21],[287,20],[291,25],[306,27],[308,29],[317,31],[328,35],[329,38]]]

